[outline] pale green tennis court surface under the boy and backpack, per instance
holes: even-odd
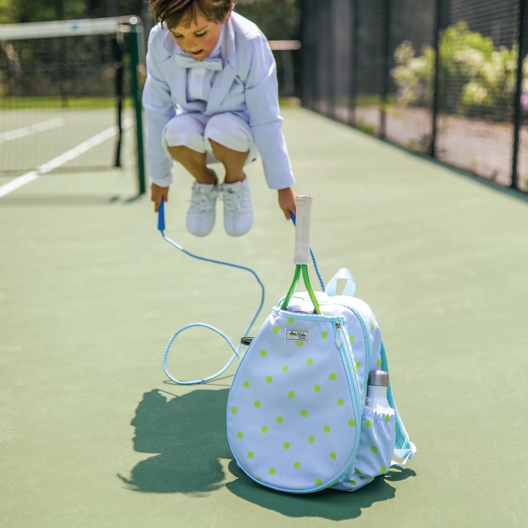
[[[283,114],[295,189],[314,196],[319,268],[325,281],[350,268],[372,307],[416,458],[356,493],[252,483],[225,433],[234,368],[183,387],[167,383],[161,360],[194,321],[238,341],[256,282],[163,241],[152,204],[134,200],[133,163],[63,167],[0,199],[0,524],[528,525],[528,203],[308,111]],[[108,164],[107,147],[94,166]],[[225,235],[220,208],[208,238],[186,233],[183,172],[166,232],[258,272],[267,289],[256,332],[290,284],[294,229],[260,162],[248,174],[247,236]],[[191,330],[168,367],[194,379],[229,355],[219,336]]]

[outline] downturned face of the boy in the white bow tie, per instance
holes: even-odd
[[[230,16],[231,12],[227,14],[223,22],[227,22]],[[169,31],[183,51],[186,51],[193,59],[200,61],[207,58],[214,50],[220,38],[223,22],[211,22],[198,12],[196,20],[192,20],[191,25],[188,23],[188,18],[184,18],[180,25],[169,28]]]

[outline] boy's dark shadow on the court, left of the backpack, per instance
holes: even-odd
[[[130,422],[134,450],[157,453],[139,462],[132,489],[150,493],[209,492],[222,486],[219,458],[232,458],[225,431],[228,389],[195,390],[167,401],[158,390],[146,392]]]

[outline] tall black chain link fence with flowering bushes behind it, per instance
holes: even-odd
[[[528,191],[528,0],[303,0],[303,105]]]

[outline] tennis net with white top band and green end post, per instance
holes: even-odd
[[[136,16],[0,25],[0,176],[135,168],[143,193],[143,54]]]

